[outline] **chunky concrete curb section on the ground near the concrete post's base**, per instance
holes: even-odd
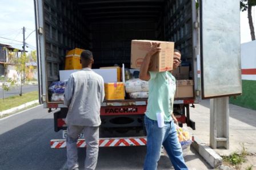
[[[197,137],[194,137],[194,142],[191,146],[211,165],[211,167],[217,168],[222,165],[222,157]]]

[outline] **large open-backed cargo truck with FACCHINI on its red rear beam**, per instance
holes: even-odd
[[[193,98],[174,102],[181,126],[186,123],[195,129],[190,106],[201,98],[241,94],[238,0],[34,0],[34,4],[39,101],[49,112],[59,108],[54,112],[56,132],[66,129],[67,108],[63,102],[51,102],[49,85],[59,80],[66,52],[75,47],[93,51],[94,68],[123,63],[129,68],[132,39],[175,42],[194,81]],[[146,145],[146,104],[146,99],[105,100],[99,146]],[[65,147],[65,139],[51,140],[51,148]],[[83,139],[78,147],[85,147]]]

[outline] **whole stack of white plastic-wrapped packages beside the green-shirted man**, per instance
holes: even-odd
[[[125,82],[125,90],[131,99],[142,99],[149,97],[149,82],[141,79],[130,79]]]

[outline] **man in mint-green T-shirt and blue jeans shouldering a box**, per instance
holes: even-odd
[[[149,99],[145,113],[147,153],[144,169],[157,169],[162,145],[169,155],[174,169],[187,169],[175,127],[175,123],[178,121],[173,114],[176,80],[170,71],[149,71],[151,57],[160,51],[159,43],[152,43],[143,59],[139,73],[140,79],[149,81]],[[181,52],[175,50],[173,59],[173,69],[175,69],[181,63]]]

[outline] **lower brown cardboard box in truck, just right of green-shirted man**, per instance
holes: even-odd
[[[178,80],[174,98],[193,98],[193,80]]]

